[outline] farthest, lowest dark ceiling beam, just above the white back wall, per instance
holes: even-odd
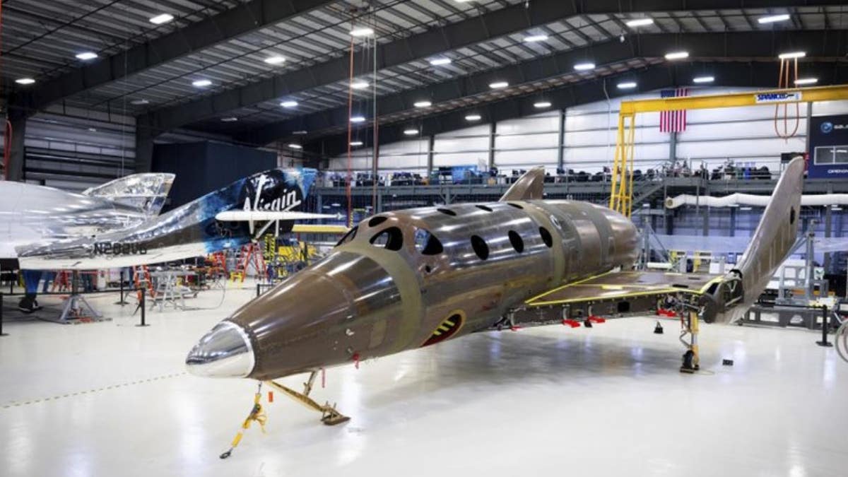
[[[823,83],[845,83],[848,82],[848,62],[840,61],[833,63],[805,63],[806,72],[817,74],[819,81]],[[739,62],[708,62],[708,63],[685,63],[677,65],[655,65],[636,72],[627,71],[603,78],[595,78],[589,81],[574,83],[562,87],[551,88],[545,93],[551,103],[557,108],[569,108],[579,104],[593,103],[605,99],[604,81],[618,81],[627,79],[639,83],[639,91],[651,91],[662,87],[673,87],[681,84],[690,84],[694,76],[702,75],[709,71],[717,77],[717,84],[725,87],[771,87],[778,77],[778,65],[776,63],[739,63]],[[607,87],[611,97],[622,97],[633,94],[633,91],[624,93],[617,88]],[[537,93],[530,93],[521,97],[509,98],[489,104],[473,107],[455,109],[449,113],[432,115],[421,121],[421,132],[434,135],[440,132],[455,131],[471,126],[465,120],[465,116],[474,111],[483,115],[483,121],[504,121],[527,115],[538,114],[538,109],[533,103],[538,98]],[[380,142],[382,144],[393,143],[404,139],[404,125],[382,125],[380,127]],[[332,157],[346,150],[345,137],[343,134],[333,135],[307,143],[305,150],[323,150],[326,156]],[[323,149],[321,149],[323,148]]]

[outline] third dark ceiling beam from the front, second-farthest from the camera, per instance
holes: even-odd
[[[827,41],[823,41],[823,37]],[[411,111],[413,104],[422,98],[434,104],[466,98],[489,91],[492,81],[509,81],[517,85],[563,76],[571,72],[572,66],[592,55],[598,65],[620,63],[632,58],[661,57],[667,53],[668,45],[689,50],[692,58],[774,58],[778,53],[795,45],[806,49],[809,57],[839,57],[835,47],[848,42],[846,31],[746,31],[735,33],[655,33],[632,36],[626,42],[616,38],[608,42],[595,43],[584,48],[576,48],[538,59],[531,59],[516,65],[495,70],[483,71],[470,76],[462,76],[404,91],[381,96],[377,100],[377,116],[393,115],[402,111]],[[263,146],[282,137],[292,135],[294,131],[309,131],[311,137],[320,136],[322,130],[347,127],[347,106],[317,111],[286,121],[277,121],[265,126],[255,127],[235,135],[238,142]],[[332,133],[332,131],[327,131]]]

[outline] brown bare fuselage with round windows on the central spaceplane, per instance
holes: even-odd
[[[481,331],[534,295],[631,265],[636,244],[632,222],[584,202],[385,212],[220,325],[250,356],[192,372],[274,379]]]

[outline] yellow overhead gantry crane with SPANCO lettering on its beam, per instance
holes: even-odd
[[[848,85],[622,101],[621,110],[618,113],[616,155],[612,165],[610,208],[628,217],[633,209],[633,137],[636,132],[637,113],[735,106],[774,106],[837,99],[848,99]]]

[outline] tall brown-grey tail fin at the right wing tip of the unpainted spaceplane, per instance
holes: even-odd
[[[804,159],[795,158],[786,166],[772,198],[762,214],[742,259],[722,283],[723,308],[734,307],[732,317],[745,312],[795,245],[801,222],[801,193],[804,185]],[[722,321],[730,321],[731,316]]]

